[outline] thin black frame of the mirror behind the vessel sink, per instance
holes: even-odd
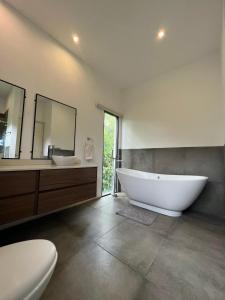
[[[35,95],[35,108],[34,108],[34,122],[33,122],[33,138],[32,138],[32,150],[31,150],[31,159],[35,159],[35,160],[49,160],[48,158],[37,158],[37,157],[34,157],[33,156],[33,153],[34,153],[34,134],[35,134],[35,122],[36,122],[36,114],[37,114],[37,103],[38,103],[38,96],[41,96],[41,97],[44,97],[46,98],[47,100],[49,101],[53,101],[53,102],[56,102],[58,104],[61,104],[61,105],[64,105],[64,106],[67,106],[67,107],[70,107],[72,109],[74,109],[74,113],[75,113],[75,122],[74,122],[74,146],[73,146],[73,153],[75,155],[75,151],[76,151],[76,128],[77,128],[77,108],[76,107],[73,107],[71,105],[68,105],[68,104],[65,104],[65,103],[62,103],[60,101],[57,101],[55,99],[52,99],[52,98],[49,98],[49,97],[46,97],[44,95],[41,95],[39,93],[36,93]]]

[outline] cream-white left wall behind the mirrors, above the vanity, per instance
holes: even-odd
[[[75,106],[76,154],[83,157],[86,137],[92,137],[97,147],[99,192],[103,112],[95,103],[119,111],[119,90],[1,2],[0,28],[0,78],[27,89],[21,158],[30,158],[36,92]]]

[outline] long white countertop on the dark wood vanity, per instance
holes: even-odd
[[[79,164],[79,165],[73,165],[73,166],[56,166],[51,164],[46,165],[9,165],[9,166],[1,166],[0,165],[0,172],[8,172],[8,171],[32,171],[32,170],[58,170],[58,169],[79,169],[79,168],[97,168],[97,165],[95,164]]]

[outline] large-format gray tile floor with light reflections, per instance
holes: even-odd
[[[0,232],[0,245],[55,243],[43,299],[224,300],[225,222],[189,213],[145,226],[115,212],[125,197],[89,202]]]

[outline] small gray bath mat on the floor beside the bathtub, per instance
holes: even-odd
[[[151,225],[157,218],[156,213],[132,205],[119,210],[116,214],[147,226]]]

